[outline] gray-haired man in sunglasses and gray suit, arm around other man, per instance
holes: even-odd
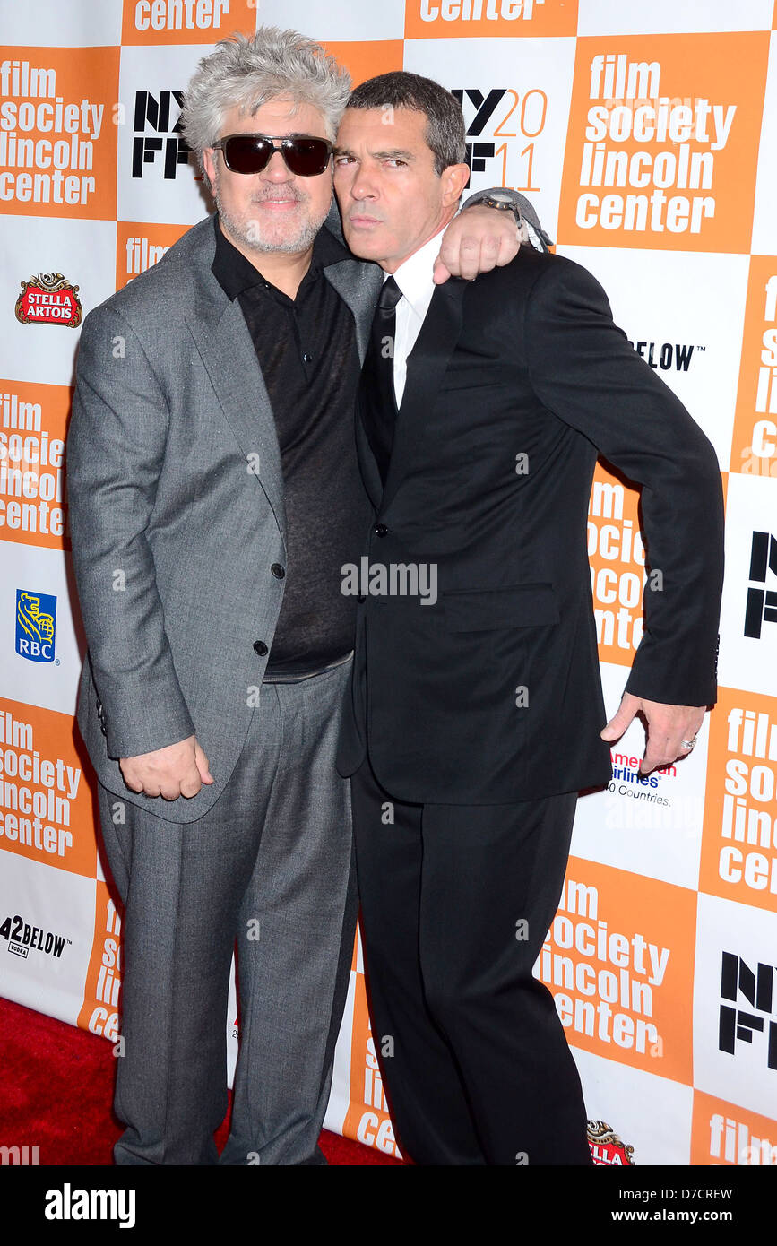
[[[81,334],[78,725],[125,902],[118,1164],[219,1160],[235,938],[220,1163],[325,1163],[356,920],[334,764],[355,623],[340,567],[369,516],[352,406],[381,284],[321,228],[349,87],[295,31],[219,42],[184,107],[218,213]],[[452,231],[454,274],[517,250],[502,213]]]

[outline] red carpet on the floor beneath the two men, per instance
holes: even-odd
[[[41,1166],[112,1164],[122,1125],[111,1108],[111,1043],[0,999],[0,1146],[37,1146]],[[227,1134],[225,1120],[219,1148]],[[398,1164],[326,1130],[321,1150],[332,1165]]]

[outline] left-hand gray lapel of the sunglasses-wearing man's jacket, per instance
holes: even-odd
[[[186,320],[238,445],[247,462],[255,465],[254,476],[285,546],[286,508],[273,409],[240,304],[227,298],[209,268]]]

